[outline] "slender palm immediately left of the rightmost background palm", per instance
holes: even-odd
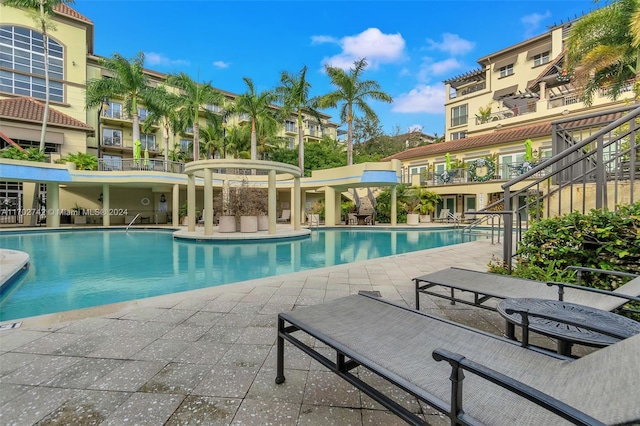
[[[282,115],[289,118],[296,114],[298,122],[298,167],[304,176],[304,132],[302,127],[303,111],[311,114],[318,124],[322,124],[320,114],[314,108],[315,100],[309,98],[311,84],[307,81],[307,66],[302,67],[297,75],[283,71],[280,75],[280,86],[276,87],[278,100],[282,102]]]

